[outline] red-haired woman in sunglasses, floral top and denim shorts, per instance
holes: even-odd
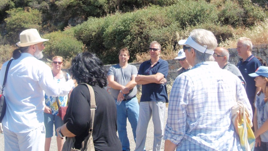
[[[61,84],[62,82],[66,82],[68,79],[70,79],[70,75],[62,71],[61,68],[63,66],[63,57],[55,56],[52,59],[52,74],[54,77],[54,80],[57,81],[58,84]],[[60,103],[60,106],[67,106],[68,102],[68,96],[70,96],[71,91],[66,96],[58,96],[58,100]],[[54,96],[47,96],[45,94],[45,110],[44,110],[44,123],[46,127],[46,141],[45,141],[45,151],[49,151],[51,138],[53,136],[53,124],[55,126],[55,132],[57,127],[60,127],[63,125],[63,120],[60,116],[57,116],[58,112],[58,106],[56,97]],[[57,136],[57,133],[55,133]],[[61,137],[57,137],[57,148],[58,151],[62,150],[63,146],[63,139]]]

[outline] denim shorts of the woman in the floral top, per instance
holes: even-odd
[[[63,125],[63,120],[60,116],[44,113],[44,124],[46,127],[46,138],[50,138],[53,136],[53,125],[55,126],[55,135],[56,129]]]

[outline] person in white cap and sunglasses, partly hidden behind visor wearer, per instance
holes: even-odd
[[[181,65],[181,68],[177,70],[178,75],[180,75],[183,72],[186,72],[192,68],[186,60],[185,52],[183,51],[183,49],[179,50],[178,57],[175,57],[174,59],[177,59]]]

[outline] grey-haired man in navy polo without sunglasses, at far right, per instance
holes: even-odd
[[[260,88],[257,88],[255,86],[254,77],[250,77],[248,74],[254,73],[258,67],[261,66],[261,62],[256,57],[254,57],[254,55],[252,55],[252,42],[250,38],[238,38],[236,50],[238,52],[238,55],[242,57],[242,60],[239,61],[237,67],[247,83],[247,98],[250,101],[250,105],[254,114],[255,107],[253,103],[256,93],[260,91]]]

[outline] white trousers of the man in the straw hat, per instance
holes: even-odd
[[[41,125],[25,133],[14,133],[3,126],[4,151],[43,151],[45,148],[46,130]]]

